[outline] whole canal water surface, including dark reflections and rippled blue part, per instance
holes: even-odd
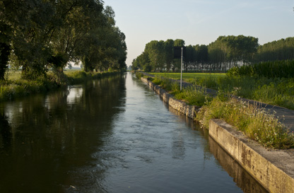
[[[131,74],[0,103],[0,192],[266,192]]]

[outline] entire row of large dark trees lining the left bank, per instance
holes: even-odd
[[[127,46],[102,0],[0,0],[0,53],[0,79],[9,65],[34,79],[69,62],[125,69]]]

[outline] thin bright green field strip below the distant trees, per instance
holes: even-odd
[[[154,76],[165,76],[167,78],[173,78],[180,80],[180,73],[148,73],[153,74]],[[224,77],[225,73],[183,73],[182,78],[184,81],[189,81],[194,78],[219,78]]]

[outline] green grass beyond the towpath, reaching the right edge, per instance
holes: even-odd
[[[180,74],[156,74],[177,78]],[[183,74],[183,79],[197,86],[212,88],[294,110],[294,78],[267,78],[264,76],[226,76],[225,74]]]

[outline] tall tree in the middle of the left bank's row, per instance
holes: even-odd
[[[67,62],[80,60],[81,50],[92,51],[93,45],[85,47],[85,43],[95,38],[96,29],[106,21],[103,21],[100,1],[63,0],[57,6],[60,10],[57,18],[61,18],[62,24],[52,33],[52,58],[60,59],[52,62],[52,66],[61,70]]]

